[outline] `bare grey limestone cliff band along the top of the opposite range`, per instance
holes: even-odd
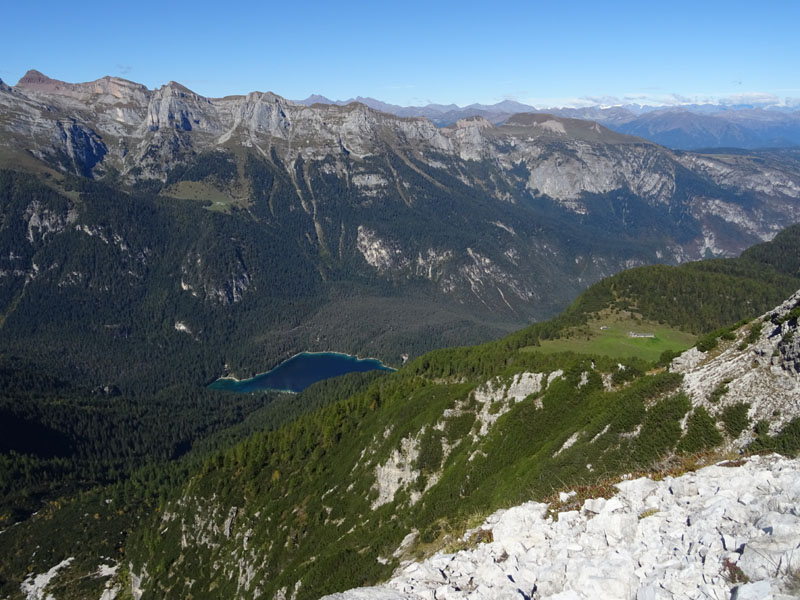
[[[360,170],[368,157],[396,158],[444,192],[443,176],[455,177],[502,201],[553,199],[577,218],[604,216],[609,207],[593,201],[598,195],[627,218],[636,211],[632,197],[703,222],[716,241],[698,236],[684,244],[690,255],[736,253],[800,219],[800,163],[791,153],[674,153],[546,114],[514,115],[500,126],[473,117],[440,129],[358,103],[305,106],[269,92],[206,98],[175,82],[149,90],[116,77],[72,84],[31,71],[0,88],[0,130],[5,145],[60,169],[101,176],[114,167],[130,181],[163,180],[197,153],[244,146],[265,157],[274,149],[289,171],[298,157],[325,161],[346,185],[373,182],[376,198],[408,181],[391,166]]]

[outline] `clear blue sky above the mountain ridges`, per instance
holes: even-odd
[[[800,98],[800,0],[8,0],[0,15],[12,85],[35,68],[402,105]]]

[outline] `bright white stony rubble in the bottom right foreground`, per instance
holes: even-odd
[[[327,598],[800,598],[800,460],[738,462],[622,481],[555,517],[536,502],[498,511],[480,528],[491,542]]]

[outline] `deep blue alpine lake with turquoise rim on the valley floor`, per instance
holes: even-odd
[[[222,377],[208,387],[242,393],[267,390],[302,392],[312,383],[347,373],[394,370],[374,358],[361,359],[339,352],[301,352],[267,373],[241,381]]]

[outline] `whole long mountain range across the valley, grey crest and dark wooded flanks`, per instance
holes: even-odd
[[[46,335],[62,354],[52,340],[87,322],[105,334],[82,348],[107,340],[104,356],[119,335],[169,332],[165,347],[213,348],[201,379],[308,349],[397,364],[553,315],[623,268],[735,255],[800,220],[796,151],[673,152],[546,114],[438,128],[358,103],[32,71],[0,88],[0,131],[3,164],[40,182],[31,196],[28,175],[6,179],[7,351]],[[158,323],[123,309],[132,298]],[[334,316],[356,314],[357,329]],[[94,370],[74,350],[64,367]],[[130,379],[116,364],[98,385]]]

